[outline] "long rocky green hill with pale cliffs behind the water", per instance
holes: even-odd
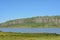
[[[37,16],[0,23],[7,28],[60,28],[60,16]]]

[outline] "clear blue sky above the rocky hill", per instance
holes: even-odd
[[[60,0],[0,0],[0,23],[52,15],[60,15]]]

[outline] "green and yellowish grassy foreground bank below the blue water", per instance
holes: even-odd
[[[0,32],[0,40],[60,40],[60,34]]]

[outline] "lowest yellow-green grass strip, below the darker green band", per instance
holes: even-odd
[[[0,40],[60,40],[60,36],[54,37],[0,36]]]

